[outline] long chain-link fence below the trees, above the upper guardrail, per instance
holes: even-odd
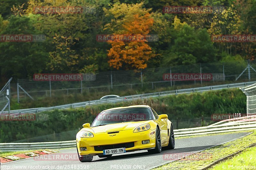
[[[96,73],[93,81],[33,81],[19,79],[17,97],[36,99],[70,93],[118,92],[127,89],[147,89],[156,91],[159,88],[179,88],[184,85],[208,86],[236,83],[256,79],[256,64],[246,62],[209,63],[186,66],[150,68],[144,70],[120,70]],[[244,71],[244,72],[243,72]],[[243,74],[241,74],[243,72]],[[241,74],[241,75],[240,75]]]

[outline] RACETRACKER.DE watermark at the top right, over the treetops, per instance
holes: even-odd
[[[168,14],[196,14],[196,13],[220,13],[224,6],[164,6],[163,13]]]

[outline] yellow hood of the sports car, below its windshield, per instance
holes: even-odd
[[[122,123],[113,123],[113,124],[107,124],[103,126],[96,126],[91,128],[84,128],[91,129],[94,133],[105,133],[105,132],[113,132],[113,131],[120,131],[120,130],[130,130],[134,129],[137,126],[140,126],[145,123],[149,123],[149,121],[139,121],[139,122],[122,122]]]

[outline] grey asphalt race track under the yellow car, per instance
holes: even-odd
[[[75,149],[62,149],[60,155],[71,155],[70,160],[60,160],[53,158],[42,160],[39,156],[17,160],[10,163],[1,164],[1,170],[11,169],[151,169],[168,162],[180,159],[186,155],[199,152],[214,145],[226,143],[228,141],[243,137],[249,133],[232,133],[224,135],[214,135],[205,137],[192,137],[176,139],[174,150],[164,150],[159,154],[148,154],[147,151],[128,152],[115,154],[111,158],[99,158],[94,156],[92,162],[82,163],[72,156],[76,155]],[[54,155],[57,158],[57,155]],[[50,160],[49,160],[50,159]],[[22,167],[23,166],[23,167]],[[27,166],[27,167],[26,167]],[[41,168],[40,168],[41,167]]]

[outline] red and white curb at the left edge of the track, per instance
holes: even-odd
[[[14,160],[20,160],[20,159],[25,159],[25,158],[32,158],[32,157],[48,155],[48,154],[52,154],[52,153],[58,153],[58,151],[51,150],[51,149],[45,149],[45,150],[40,150],[40,151],[20,153],[20,154],[15,154],[15,155],[5,156],[3,158],[0,158],[0,162],[1,163],[12,162]]]

